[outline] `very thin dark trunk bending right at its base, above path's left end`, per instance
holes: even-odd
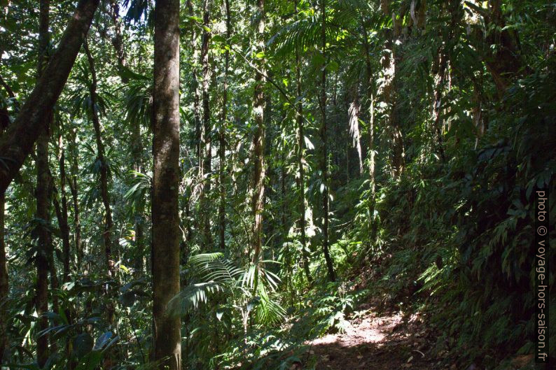
[[[321,129],[320,129],[320,136],[321,136],[321,158],[320,158],[320,167],[321,167],[321,181],[324,185],[324,189],[322,191],[322,204],[323,204],[323,227],[322,227],[322,248],[324,252],[324,259],[326,260],[326,269],[328,270],[328,279],[331,281],[336,280],[336,274],[334,271],[334,265],[332,262],[332,258],[330,256],[330,252],[328,251],[328,208],[329,208],[329,197],[328,197],[328,133],[326,127],[326,0],[321,0],[321,51],[322,56],[324,58],[324,64],[322,66],[321,72],[321,99],[320,99],[320,106],[321,106]]]

